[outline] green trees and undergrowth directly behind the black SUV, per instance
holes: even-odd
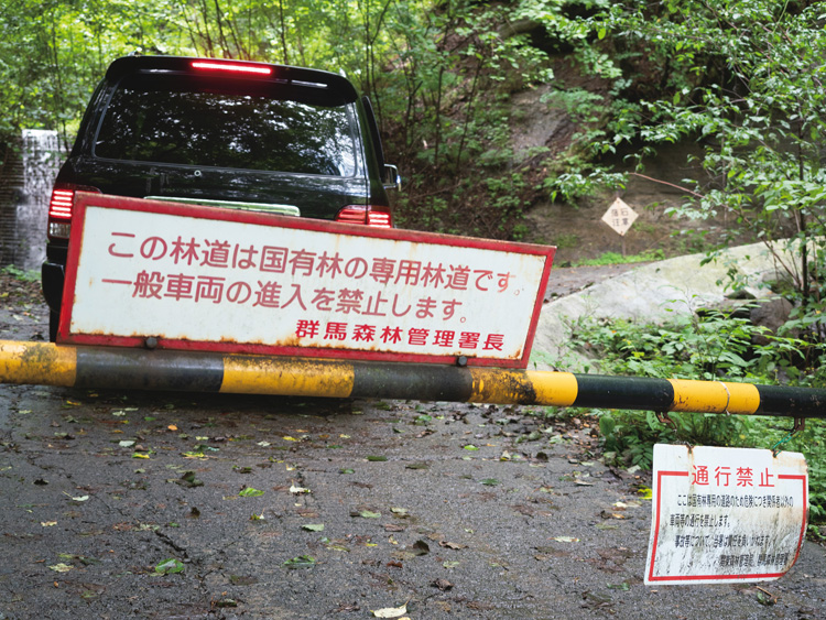
[[[508,98],[552,74],[546,53],[511,24],[531,19],[582,40],[589,26],[568,9],[604,4],[17,0],[0,12],[0,145],[22,128],[56,129],[70,144],[106,66],[132,52],[343,70],[371,96],[387,152],[405,175],[405,226],[521,236],[535,183],[526,160],[537,153],[509,150]]]

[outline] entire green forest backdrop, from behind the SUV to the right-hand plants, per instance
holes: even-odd
[[[669,328],[578,325],[582,344],[602,371],[826,384],[823,2],[4,0],[1,161],[21,129],[56,130],[70,145],[107,65],[134,52],[345,72],[371,97],[403,173],[396,222],[407,228],[531,239],[536,204],[576,209],[644,174],[663,145],[689,143],[697,174],[677,184],[670,213],[722,218],[708,260],[731,239],[762,240],[784,272],[775,290],[794,305],[790,319],[758,347],[752,326],[720,314]],[[513,101],[526,93],[562,120],[520,145]],[[674,433],[653,416],[598,414],[626,461],[644,465],[651,443]],[[784,435],[713,416],[677,427],[694,442],[763,447]],[[822,448],[826,429],[809,424],[797,442]],[[822,460],[813,479],[826,480]],[[823,520],[826,491],[812,501]]]

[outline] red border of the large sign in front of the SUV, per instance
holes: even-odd
[[[77,265],[83,251],[83,229],[86,222],[87,207],[102,207],[121,209],[128,211],[146,211],[161,215],[174,215],[193,217],[197,219],[211,219],[216,221],[237,221],[259,226],[273,226],[297,230],[309,230],[318,232],[330,232],[352,237],[368,237],[409,241],[415,243],[430,243],[439,246],[452,246],[461,248],[477,248],[502,252],[515,252],[529,255],[545,257],[545,265],[541,282],[533,304],[531,323],[522,349],[522,356],[515,359],[507,358],[467,358],[468,366],[501,367],[501,368],[526,368],[531,357],[533,339],[536,334],[536,325],[544,301],[545,287],[551,273],[556,248],[553,246],[536,246],[532,243],[518,243],[513,241],[499,241],[494,239],[477,239],[471,237],[457,237],[439,235],[435,232],[422,232],[417,230],[401,230],[395,228],[373,228],[363,225],[339,224],[328,220],[298,218],[281,216],[260,211],[232,210],[217,207],[189,205],[181,203],[166,203],[163,200],[148,200],[145,198],[131,198],[126,196],[111,196],[78,192],[75,194],[72,232],[69,238],[68,257],[66,261],[66,279],[63,289],[63,304],[61,307],[59,326],[57,329],[57,342],[68,345],[100,345],[115,347],[145,347],[145,338],[138,336],[101,336],[95,334],[72,334],[72,311],[74,308],[75,286],[77,283]],[[316,347],[287,347],[278,345],[257,345],[239,342],[215,342],[204,340],[181,340],[171,338],[157,338],[159,349],[173,350],[198,350],[219,353],[244,353],[268,355],[289,357],[314,357],[354,360],[384,360],[399,362],[426,362],[455,365],[459,356],[436,356],[424,353],[393,353],[383,351],[363,351],[356,349],[316,348]]]

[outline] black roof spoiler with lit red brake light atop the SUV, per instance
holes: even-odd
[[[352,86],[349,79],[341,75],[320,69],[293,67],[289,65],[272,65],[269,63],[256,63],[251,61],[227,61],[194,56],[122,56],[109,65],[109,68],[106,72],[106,78],[117,80],[128,74],[152,70],[193,74],[196,70],[193,68],[193,63],[198,61],[227,65],[236,64],[248,67],[267,67],[272,69],[270,75],[244,75],[244,79],[278,81],[295,86],[305,86],[308,88],[326,88],[345,97],[348,101],[355,101],[358,98],[356,87]]]

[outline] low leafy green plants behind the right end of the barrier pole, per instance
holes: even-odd
[[[635,325],[582,320],[572,330],[574,344],[598,359],[600,372],[673,379],[735,380],[774,384],[826,385],[820,365],[806,366],[806,342],[771,336],[746,319],[719,312],[677,318],[670,325]],[[769,338],[764,346],[751,338]],[[818,360],[826,348],[817,348]],[[606,457],[651,467],[655,443],[773,448],[789,436],[786,423],[772,417],[670,413],[659,418],[624,411],[598,411]],[[791,424],[789,424],[791,426]],[[826,522],[826,421],[808,420],[782,449],[806,456],[811,488],[811,519]]]

